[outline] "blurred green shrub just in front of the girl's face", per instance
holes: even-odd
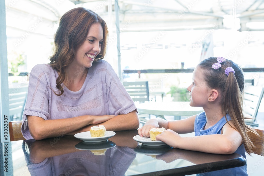
[[[171,97],[174,98],[174,101],[189,101],[189,91],[187,88],[180,88],[175,85],[171,86],[171,90],[168,92],[171,94]]]

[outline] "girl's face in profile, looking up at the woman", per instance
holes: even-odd
[[[190,106],[205,107],[208,104],[209,89],[204,80],[203,70],[196,67],[192,74],[192,83],[187,87],[190,92]]]

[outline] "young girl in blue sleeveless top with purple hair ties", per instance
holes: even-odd
[[[201,61],[193,72],[193,81],[187,88],[190,106],[202,107],[204,112],[186,119],[166,121],[150,119],[138,129],[141,137],[149,137],[149,130],[164,127],[156,136],[173,148],[215,154],[239,153],[246,158],[254,145],[247,131],[254,131],[244,123],[242,99],[244,76],[233,61],[211,57]],[[195,137],[179,134],[195,132]],[[217,175],[247,175],[246,165],[217,171]],[[220,173],[219,173],[220,172]],[[215,172],[208,174],[216,175]]]

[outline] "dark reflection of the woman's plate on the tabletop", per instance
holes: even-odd
[[[103,150],[110,149],[116,146],[112,141],[103,141],[103,142],[79,142],[75,145],[76,149],[79,150]]]

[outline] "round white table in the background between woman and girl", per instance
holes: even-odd
[[[181,116],[193,116],[203,112],[202,107],[191,107],[190,102],[151,102],[137,104],[139,114],[152,114],[161,118],[174,116],[175,120]],[[165,119],[165,118],[164,118]]]

